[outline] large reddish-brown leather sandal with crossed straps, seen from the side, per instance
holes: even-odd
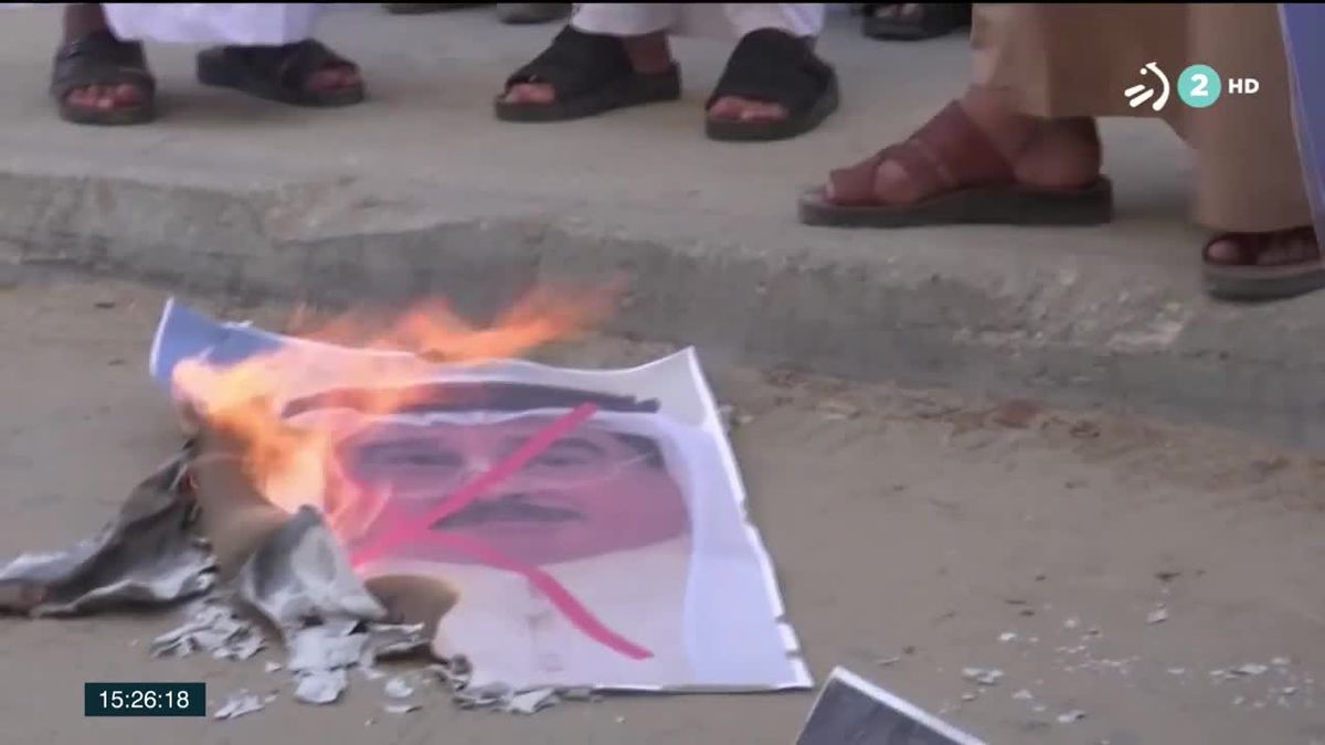
[[[884,204],[874,175],[885,160],[900,163],[931,196]],[[1097,225],[1113,217],[1113,186],[1105,176],[1077,188],[1016,182],[1012,164],[957,102],[949,103],[905,142],[829,175],[823,188],[802,196],[800,220],[810,225],[902,228],[916,225]]]

